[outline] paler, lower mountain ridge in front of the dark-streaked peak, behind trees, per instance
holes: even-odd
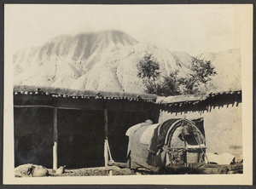
[[[137,77],[137,63],[145,53],[153,54],[154,59],[160,62],[162,75],[179,71],[180,76],[185,77],[189,73],[187,66],[177,62],[168,49],[138,43],[105,56],[97,66],[73,83],[71,88],[142,93],[144,86]]]

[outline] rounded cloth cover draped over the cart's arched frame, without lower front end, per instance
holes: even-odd
[[[131,169],[143,168],[158,172],[166,164],[164,146],[172,147],[173,144],[177,144],[175,140],[186,141],[187,147],[205,147],[200,130],[188,119],[169,119],[157,124],[140,123],[132,128],[129,132],[127,152],[127,165]]]

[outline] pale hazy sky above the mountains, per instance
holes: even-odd
[[[242,5],[5,5],[13,49],[108,29],[191,55],[241,47]]]

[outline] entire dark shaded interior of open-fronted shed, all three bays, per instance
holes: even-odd
[[[15,107],[14,116],[15,167],[34,163],[52,168],[53,108]],[[108,111],[108,143],[114,161],[126,161],[126,130],[148,118],[148,112]],[[57,109],[58,167],[104,166],[104,125],[103,110]]]

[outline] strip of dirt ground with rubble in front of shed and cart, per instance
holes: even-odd
[[[15,168],[15,177],[42,177],[42,176],[104,176],[104,175],[152,175],[156,174],[148,172],[146,169],[127,169],[117,166],[83,168],[83,169],[65,169],[60,167],[56,171],[46,169],[40,165],[24,164]],[[243,163],[235,163],[230,165],[204,164],[201,167],[166,167],[159,175],[184,175],[184,174],[242,174]]]

